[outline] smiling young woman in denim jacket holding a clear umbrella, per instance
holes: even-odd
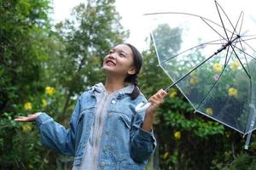
[[[137,88],[142,64],[142,55],[131,44],[111,49],[103,61],[105,85],[98,83],[79,97],[68,129],[42,112],[15,121],[35,121],[44,145],[74,156],[73,170],[145,169],[156,145],[154,113],[166,92],[161,89],[150,97],[146,111],[135,111],[147,102]]]

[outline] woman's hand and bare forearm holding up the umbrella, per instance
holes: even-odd
[[[151,96],[148,99],[148,102],[151,103],[151,105],[148,107],[145,113],[145,118],[143,122],[143,130],[150,132],[152,129],[152,125],[154,122],[154,114],[159,108],[159,106],[164,103],[164,97],[166,96],[166,91],[163,89],[160,89],[156,94]]]

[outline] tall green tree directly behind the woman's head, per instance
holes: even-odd
[[[104,81],[103,57],[128,36],[119,20],[113,0],[90,0],[73,9],[72,19],[55,26],[62,46],[49,66],[54,71],[50,75],[65,96],[61,120],[70,111],[74,95]]]

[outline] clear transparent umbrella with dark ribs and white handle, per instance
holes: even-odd
[[[174,12],[145,17],[159,65],[173,82],[166,92],[176,85],[195,112],[247,134],[247,149],[256,128],[255,20],[242,11],[231,20],[214,3],[218,20]]]

